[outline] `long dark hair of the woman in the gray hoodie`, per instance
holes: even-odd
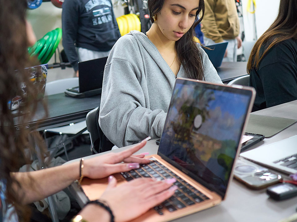
[[[165,0],[149,0],[149,14],[152,23],[154,22],[153,16],[157,14],[163,7]],[[198,15],[202,10],[202,15],[199,19]],[[202,56],[198,50],[197,43],[193,37],[195,34],[195,27],[201,22],[204,16],[204,0],[199,1],[199,8],[196,12],[196,20],[192,27],[187,31],[182,38],[175,43],[175,49],[179,61],[183,64],[187,78],[204,80]]]

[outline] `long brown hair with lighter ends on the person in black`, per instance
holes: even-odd
[[[267,31],[256,41],[248,59],[248,73],[253,67],[258,68],[264,55],[274,45],[287,40],[297,38],[297,1],[281,0],[278,16]],[[268,46],[267,46],[268,45]],[[263,47],[265,51],[261,54]]]

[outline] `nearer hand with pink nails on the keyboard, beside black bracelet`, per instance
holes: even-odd
[[[130,221],[170,198],[177,189],[171,187],[175,181],[174,178],[162,181],[141,178],[116,187],[117,180],[110,176],[100,199],[109,205],[115,222]]]

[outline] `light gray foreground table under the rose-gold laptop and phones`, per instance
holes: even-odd
[[[267,115],[274,117],[285,117],[297,119],[297,101],[292,101],[286,104],[274,106],[268,109],[254,112],[259,115]],[[261,143],[256,144],[252,148],[270,144],[279,140],[289,138],[297,134],[297,124],[291,125],[289,128],[276,134],[271,138],[265,138]],[[112,152],[120,152],[124,147]],[[155,140],[148,141],[147,145],[137,153],[149,152],[150,154],[157,153],[158,146]],[[111,151],[109,151],[111,152]],[[101,154],[96,154],[101,155]],[[92,158],[88,156],[86,158]],[[78,161],[73,160],[73,161]],[[70,161],[72,162],[72,161]],[[75,195],[80,206],[86,202],[86,196],[75,183],[70,186],[70,190]],[[278,221],[290,216],[296,212],[297,197],[284,201],[274,201],[269,199],[265,189],[253,191],[246,188],[243,184],[233,180],[230,184],[229,192],[226,200],[222,204],[209,208],[207,210],[197,212],[195,214],[174,220],[175,222],[196,222],[196,221],[226,221],[226,222],[253,222],[253,221]]]

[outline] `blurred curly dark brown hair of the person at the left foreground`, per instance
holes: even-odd
[[[19,171],[22,164],[30,163],[28,151],[34,151],[28,140],[29,130],[14,126],[28,122],[37,107],[38,89],[29,80],[30,70],[24,69],[35,65],[28,58],[28,39],[26,33],[26,0],[0,0],[0,180],[6,183],[6,202],[15,206],[19,220],[28,220],[28,208],[22,205],[24,193],[21,185],[11,176]],[[27,88],[22,95],[20,117],[13,116],[9,101],[21,95],[21,90]],[[30,153],[30,152],[29,152]]]

